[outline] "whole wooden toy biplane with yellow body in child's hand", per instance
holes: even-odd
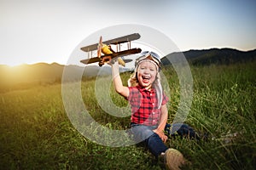
[[[111,59],[117,58],[119,65],[125,66],[125,59],[122,59],[121,57],[125,55],[130,54],[138,54],[141,53],[141,48],[131,48],[131,41],[139,39],[141,36],[138,33],[134,33],[131,35],[127,35],[124,37],[118,37],[114,38],[105,42],[102,42],[102,37],[100,37],[99,43],[92,44],[86,47],[81,48],[84,52],[88,53],[88,59],[80,60],[81,63],[84,63],[85,65],[90,63],[99,63],[99,66],[104,65],[105,63],[108,63]],[[121,43],[127,43],[127,49],[121,51],[120,50],[120,44]],[[116,51],[114,51],[111,48],[111,45],[116,46]],[[96,51],[96,57],[93,57],[93,51]]]

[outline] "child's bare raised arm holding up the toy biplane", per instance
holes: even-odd
[[[114,62],[112,65],[112,77],[113,77],[113,86],[115,88],[115,91],[127,98],[129,96],[129,88],[123,86],[123,82],[121,80],[121,77],[119,75],[119,63]]]

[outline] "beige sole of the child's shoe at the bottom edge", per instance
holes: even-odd
[[[185,159],[180,151],[170,148],[165,152],[165,163],[169,170],[180,170],[179,167],[185,164]]]

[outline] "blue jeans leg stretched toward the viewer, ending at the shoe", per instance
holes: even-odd
[[[153,130],[157,126],[145,126],[140,124],[131,123],[131,133],[133,139],[137,142],[144,142],[148,147],[148,150],[155,156],[159,156],[162,152],[165,152],[168,148],[166,144],[160,139],[157,133]]]

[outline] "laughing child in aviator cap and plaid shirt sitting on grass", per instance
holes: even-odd
[[[131,132],[136,142],[145,142],[155,156],[164,156],[166,167],[179,169],[184,163],[183,155],[166,147],[167,136],[164,129],[167,122],[167,97],[160,84],[160,57],[154,52],[143,52],[136,59],[135,70],[123,86],[119,76],[119,64],[114,59],[112,65],[113,85],[116,92],[131,105]]]

